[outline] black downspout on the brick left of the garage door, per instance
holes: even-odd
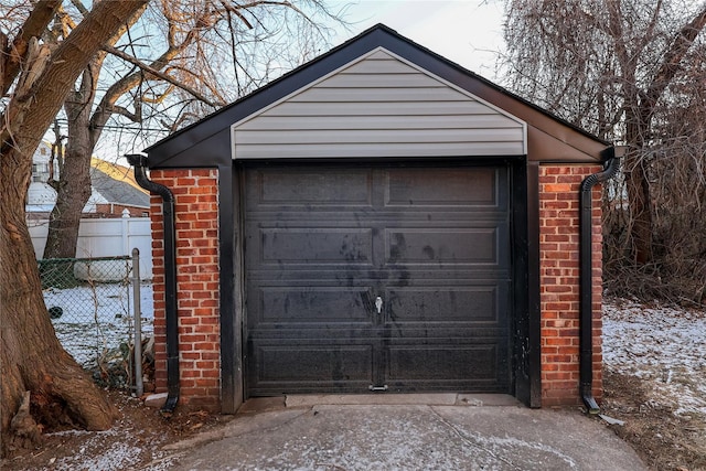
[[[145,168],[147,157],[136,153],[125,156],[135,167],[135,180],[145,190],[162,197],[162,222],[164,224],[164,311],[167,317],[167,402],[160,409],[164,417],[171,416],[179,403],[179,324],[176,319],[176,253],[174,232],[174,195],[164,185],[148,179]]]

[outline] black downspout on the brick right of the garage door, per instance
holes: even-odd
[[[580,332],[580,395],[589,414],[600,411],[593,398],[593,277],[592,277],[592,197],[591,190],[598,183],[612,179],[620,167],[620,158],[616,157],[616,148],[611,147],[603,152],[606,165],[602,171],[588,175],[581,182],[579,215],[580,226],[580,306],[579,306],[579,332]]]

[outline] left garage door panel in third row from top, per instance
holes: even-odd
[[[310,323],[371,323],[371,287],[261,287],[254,322],[266,328],[278,324],[300,328]]]

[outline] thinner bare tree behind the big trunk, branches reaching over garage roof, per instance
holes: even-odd
[[[72,3],[56,18],[57,39],[88,13]],[[317,0],[161,0],[135,15],[128,34],[103,45],[64,103],[66,149],[60,178],[49,182],[57,199],[44,258],[76,254],[90,157],[109,122],[173,131],[200,119],[271,79],[272,63],[290,68],[292,47],[308,58],[325,43],[329,20],[336,19]]]

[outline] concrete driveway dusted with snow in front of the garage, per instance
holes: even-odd
[[[165,451],[178,470],[646,470],[598,419],[498,395],[255,399]]]

